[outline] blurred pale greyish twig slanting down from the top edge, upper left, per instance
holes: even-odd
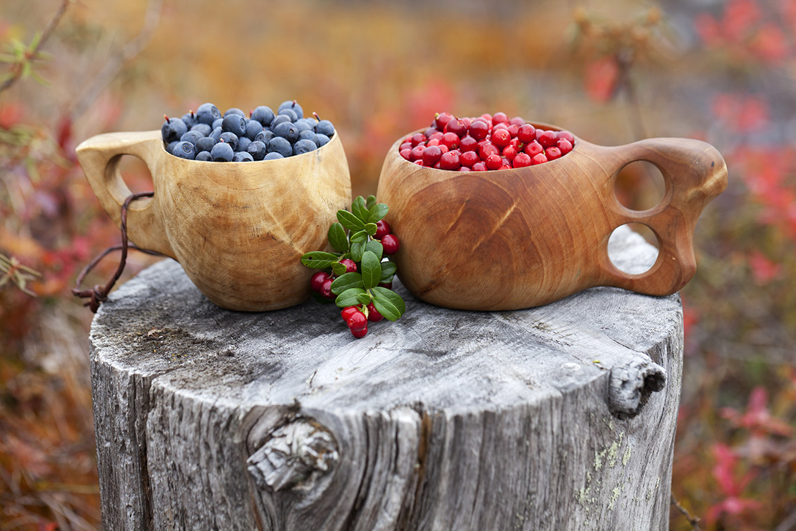
[[[132,41],[128,42],[119,53],[111,57],[111,59],[105,63],[102,70],[100,70],[100,73],[94,77],[91,84],[88,85],[88,88],[81,91],[83,97],[80,98],[80,100],[72,106],[72,110],[67,113],[72,122],[83,115],[88,107],[91,107],[92,103],[100,96],[103,90],[105,90],[105,88],[111,84],[115,76],[119,74],[124,64],[134,59],[146,48],[146,45],[149,44],[149,41],[154,36],[155,30],[158,29],[158,25],[160,24],[162,6],[163,0],[150,0],[149,4],[146,6],[144,24],[139,34]]]

